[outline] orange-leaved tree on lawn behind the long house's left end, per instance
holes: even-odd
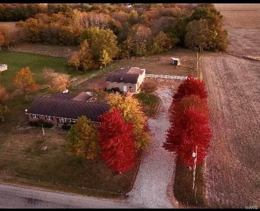
[[[22,68],[16,73],[13,80],[13,85],[25,94],[27,101],[29,101],[27,93],[37,91],[39,89],[39,86],[33,80],[33,73],[29,67]]]

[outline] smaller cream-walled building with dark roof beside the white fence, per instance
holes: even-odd
[[[106,88],[119,88],[121,91],[136,92],[145,78],[145,69],[127,67],[108,74]]]

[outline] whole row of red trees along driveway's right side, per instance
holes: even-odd
[[[192,153],[197,151],[197,163],[203,163],[207,154],[211,131],[208,126],[208,106],[205,84],[192,75],[184,81],[174,94],[169,108],[170,128],[164,148],[175,152],[179,161],[193,166]]]

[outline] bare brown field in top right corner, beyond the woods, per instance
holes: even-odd
[[[215,4],[224,19],[228,53],[260,57],[260,4]]]

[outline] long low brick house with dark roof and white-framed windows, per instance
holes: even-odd
[[[106,103],[88,102],[91,95],[85,92],[80,94],[55,93],[53,97],[36,97],[26,111],[29,121],[39,119],[54,125],[74,123],[78,117],[84,115],[92,123],[100,124],[98,117],[109,111]]]

